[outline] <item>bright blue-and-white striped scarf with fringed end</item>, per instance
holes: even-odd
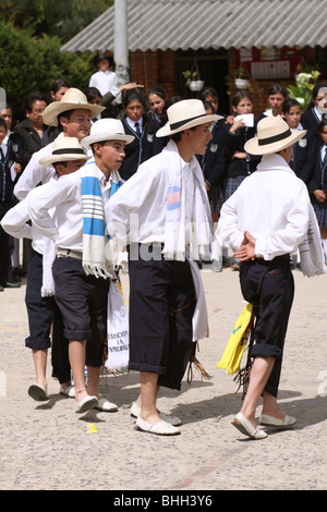
[[[123,184],[118,171],[110,174],[112,180],[110,197]],[[86,275],[114,279],[114,265],[106,257],[108,235],[98,170],[94,160],[88,161],[82,173],[83,205],[83,268]]]

